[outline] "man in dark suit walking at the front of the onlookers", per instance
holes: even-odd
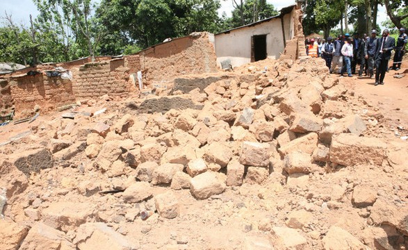
[[[377,39],[375,52],[375,85],[384,85],[384,77],[388,62],[391,58],[391,51],[395,48],[395,39],[389,36],[389,31],[382,31],[382,37]]]

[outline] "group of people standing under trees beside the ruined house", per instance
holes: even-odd
[[[346,33],[344,36],[338,35],[336,40],[331,37],[327,41],[320,38],[306,40],[305,45],[309,56],[325,59],[330,74],[335,73],[338,67],[338,74],[343,76],[347,73],[351,77],[356,74],[357,65],[360,65],[359,77],[364,73],[370,78],[375,77],[375,85],[384,85],[391,51],[395,50],[392,69],[399,70],[407,42],[405,28],[400,28],[396,44],[395,39],[389,35],[389,30],[385,29],[380,38],[377,38],[377,31],[373,30],[371,36],[364,34],[362,38],[359,33],[354,33],[353,36]]]

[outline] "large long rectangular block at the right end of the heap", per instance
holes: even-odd
[[[378,138],[361,138],[354,134],[341,133],[333,138],[330,146],[330,161],[339,165],[382,165],[386,159],[386,144]]]

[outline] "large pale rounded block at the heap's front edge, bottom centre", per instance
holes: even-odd
[[[204,172],[190,181],[191,194],[197,199],[207,199],[214,194],[224,192],[226,185],[216,172]]]

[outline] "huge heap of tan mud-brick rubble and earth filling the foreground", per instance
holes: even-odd
[[[1,249],[407,246],[407,146],[322,60],[152,92],[83,100],[106,112],[40,117],[0,147]]]

